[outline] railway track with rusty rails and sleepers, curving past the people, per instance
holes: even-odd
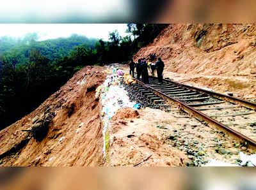
[[[137,80],[132,84],[141,95],[161,107],[170,106],[170,101],[200,121],[226,129],[245,142],[256,146],[256,104],[243,99],[179,84],[156,77],[149,84]],[[168,103],[169,102],[169,103]]]

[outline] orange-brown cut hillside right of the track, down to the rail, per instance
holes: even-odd
[[[162,57],[164,77],[254,101],[255,50],[255,24],[170,24],[134,61]]]

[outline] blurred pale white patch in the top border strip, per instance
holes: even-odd
[[[1,23],[108,23],[129,15],[129,0],[2,0],[0,6]]]

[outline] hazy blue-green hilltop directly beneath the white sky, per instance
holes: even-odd
[[[3,36],[0,38],[0,55],[17,57],[19,63],[26,61],[29,52],[33,49],[40,50],[42,55],[47,59],[54,61],[64,56],[70,55],[70,50],[76,50],[76,47],[84,45],[84,47],[94,47],[97,39],[87,38],[72,34],[68,38],[56,38],[52,40],[38,41],[36,33],[30,33],[23,38],[13,38]]]

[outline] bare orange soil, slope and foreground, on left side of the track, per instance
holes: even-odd
[[[1,131],[1,166],[202,166],[209,159],[238,164],[239,152],[256,153],[239,138],[189,117],[175,105],[166,112],[145,103],[140,110],[122,108],[114,115],[104,157],[102,109],[95,94],[109,75],[106,70],[79,71],[38,109]],[[43,113],[54,117],[47,136],[37,141],[22,129],[31,129]]]

